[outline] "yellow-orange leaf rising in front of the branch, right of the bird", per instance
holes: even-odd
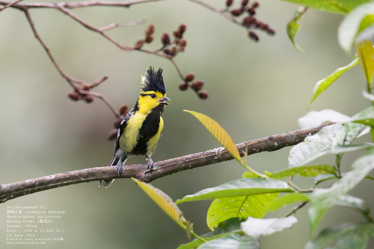
[[[209,118],[208,116],[194,111],[183,110],[185,112],[191,113],[197,120],[199,120],[205,128],[215,137],[215,139],[220,142],[220,144],[225,147],[227,152],[232,155],[236,161],[242,164],[242,160],[240,159],[239,150],[237,149],[234,141],[230,137],[230,135],[219,125],[216,121]]]

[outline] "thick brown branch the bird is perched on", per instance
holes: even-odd
[[[321,130],[322,127],[329,124],[320,125],[310,130],[297,130],[287,133],[264,137],[248,142],[236,144],[240,156],[243,156],[246,146],[248,155],[282,149],[286,146],[292,146],[300,143],[305,137],[311,136]],[[48,175],[17,183],[9,183],[0,185],[0,203],[14,199],[25,194],[31,194],[47,189],[54,189],[71,184],[85,183],[90,181],[112,179],[112,178],[130,178],[134,177],[140,181],[150,182],[157,178],[171,175],[187,169],[193,169],[209,164],[228,161],[233,157],[226,150],[217,153],[217,150],[207,150],[205,152],[195,153],[191,155],[172,158],[161,162],[155,162],[154,170],[147,171],[147,165],[124,165],[122,166],[122,175],[119,177],[116,173],[116,167],[95,167],[89,169],[80,169],[55,175]]]

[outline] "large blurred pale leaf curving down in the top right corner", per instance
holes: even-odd
[[[367,1],[367,3],[358,5],[350,11],[343,21],[340,22],[338,27],[338,43],[347,54],[350,54],[357,34],[373,22],[373,18],[371,17],[373,13],[374,3]],[[365,18],[366,16],[368,17]]]

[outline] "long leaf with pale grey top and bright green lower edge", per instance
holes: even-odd
[[[293,191],[294,190],[284,181],[264,178],[243,178],[221,184],[217,187],[203,189],[195,194],[186,195],[175,203],[179,204],[195,200]]]

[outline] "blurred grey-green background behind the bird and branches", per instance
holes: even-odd
[[[29,2],[29,1],[24,1]],[[214,1],[224,7],[224,0]],[[237,2],[236,4],[239,4]],[[220,147],[218,142],[183,109],[209,115],[219,122],[236,143],[298,129],[297,119],[308,110],[315,83],[336,68],[348,64],[338,47],[337,27],[343,16],[309,9],[302,20],[297,43],[306,51],[292,47],[286,23],[298,6],[282,1],[260,1],[256,17],[276,30],[274,37],[257,32],[260,42],[249,40],[243,28],[217,13],[190,1],[158,1],[120,7],[87,7],[73,12],[87,22],[103,27],[112,22],[146,19],[142,25],[108,32],[123,44],[132,45],[143,37],[149,24],[156,31],[154,42],[144,48],[160,46],[163,32],[187,25],[187,47],[175,58],[183,74],[194,72],[205,81],[207,100],[188,90],[181,92],[181,81],[172,64],[161,57],[140,52],[123,52],[96,34],[54,9],[31,9],[36,28],[61,68],[69,75],[95,81],[109,79],[95,91],[104,94],[116,107],[132,108],[140,89],[140,75],[147,66],[164,69],[167,96],[165,127],[153,161],[174,158]],[[34,38],[24,13],[6,9],[0,13],[0,184],[12,183],[76,169],[105,166],[113,155],[113,141],[107,134],[114,116],[98,99],[93,103],[73,102],[71,87],[59,75],[42,46]],[[369,106],[361,96],[365,88],[359,67],[346,72],[310,110],[331,108],[353,115]],[[248,157],[257,171],[277,171],[288,164],[289,148]],[[357,155],[356,155],[357,156]],[[343,163],[349,167],[349,156]],[[333,164],[333,157],[323,160]],[[127,164],[145,163],[134,157]],[[244,169],[235,161],[205,166],[160,178],[152,184],[176,200],[203,188],[240,178]],[[299,182],[301,183],[301,181]],[[374,206],[372,185],[364,181],[352,194]],[[197,234],[209,231],[206,211],[210,201],[184,203],[180,208],[194,223]],[[0,205],[0,248],[5,245],[6,206],[45,205],[47,210],[66,214],[50,227],[64,229],[62,242],[48,247],[66,248],[177,248],[188,242],[186,233],[171,221],[142,190],[129,179],[116,180],[108,188],[97,182],[60,187],[9,200]],[[279,217],[282,209],[267,217]],[[296,217],[291,230],[260,239],[262,248],[303,248],[309,239],[307,209]],[[352,210],[332,208],[318,226],[360,221]],[[318,232],[317,231],[317,232]],[[38,236],[38,235],[37,235]],[[40,245],[28,245],[40,248]],[[24,248],[21,245],[9,248]]]

